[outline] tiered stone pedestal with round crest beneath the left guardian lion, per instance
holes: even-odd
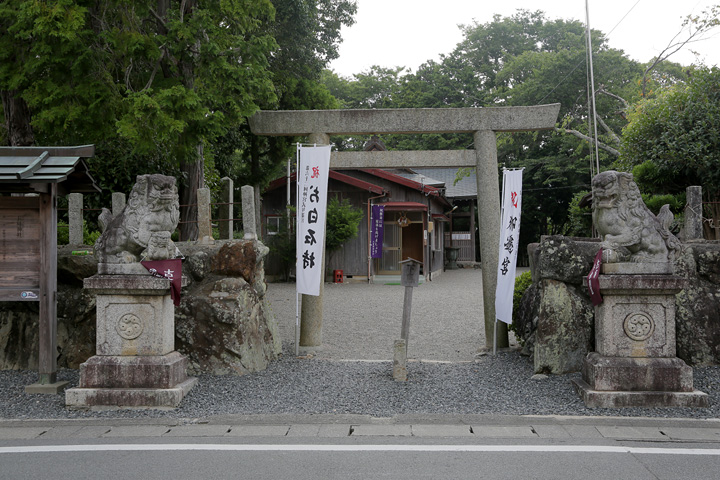
[[[107,270],[107,269],[103,269]],[[95,275],[96,355],[80,365],[70,407],[176,407],[196,383],[185,356],[175,352],[170,281],[145,275]]]

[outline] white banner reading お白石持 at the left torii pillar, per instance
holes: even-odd
[[[320,295],[330,145],[298,145],[297,292]]]

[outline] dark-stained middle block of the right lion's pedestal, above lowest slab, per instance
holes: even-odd
[[[583,380],[592,390],[692,392],[693,373],[679,358],[606,357],[589,353]]]

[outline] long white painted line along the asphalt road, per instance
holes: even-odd
[[[71,453],[121,451],[219,451],[219,452],[540,452],[630,453],[637,455],[720,456],[717,448],[644,448],[591,445],[222,445],[222,444],[116,444],[37,445],[0,447],[3,453]]]

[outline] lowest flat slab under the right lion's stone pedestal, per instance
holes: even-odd
[[[584,380],[573,383],[583,402],[589,408],[623,407],[694,407],[706,408],[708,395],[698,390],[692,392],[609,392],[593,390]]]

